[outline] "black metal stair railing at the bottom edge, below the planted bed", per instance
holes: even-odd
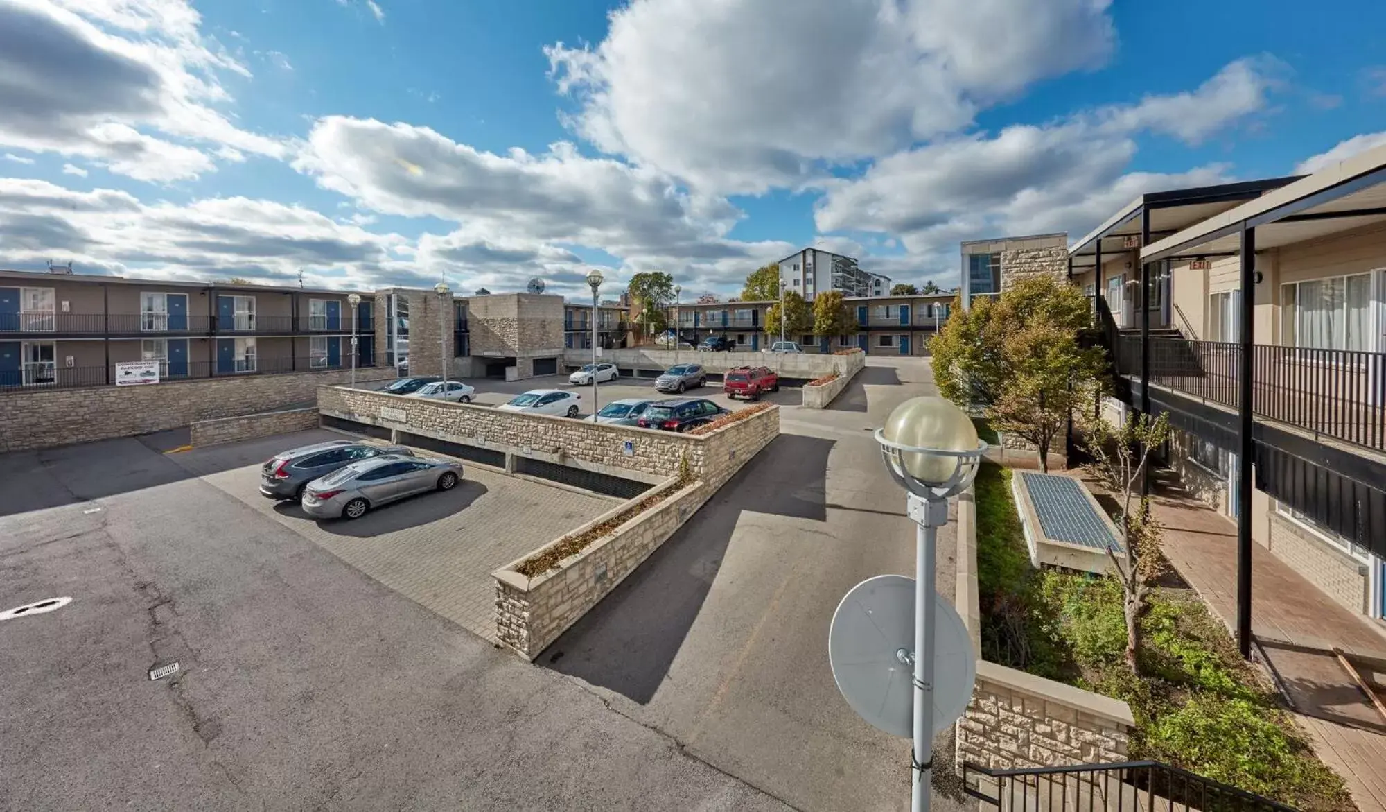
[[[990,769],[963,765],[965,791],[998,809],[1296,812],[1295,806],[1157,761]],[[981,788],[985,777],[995,795]]]

